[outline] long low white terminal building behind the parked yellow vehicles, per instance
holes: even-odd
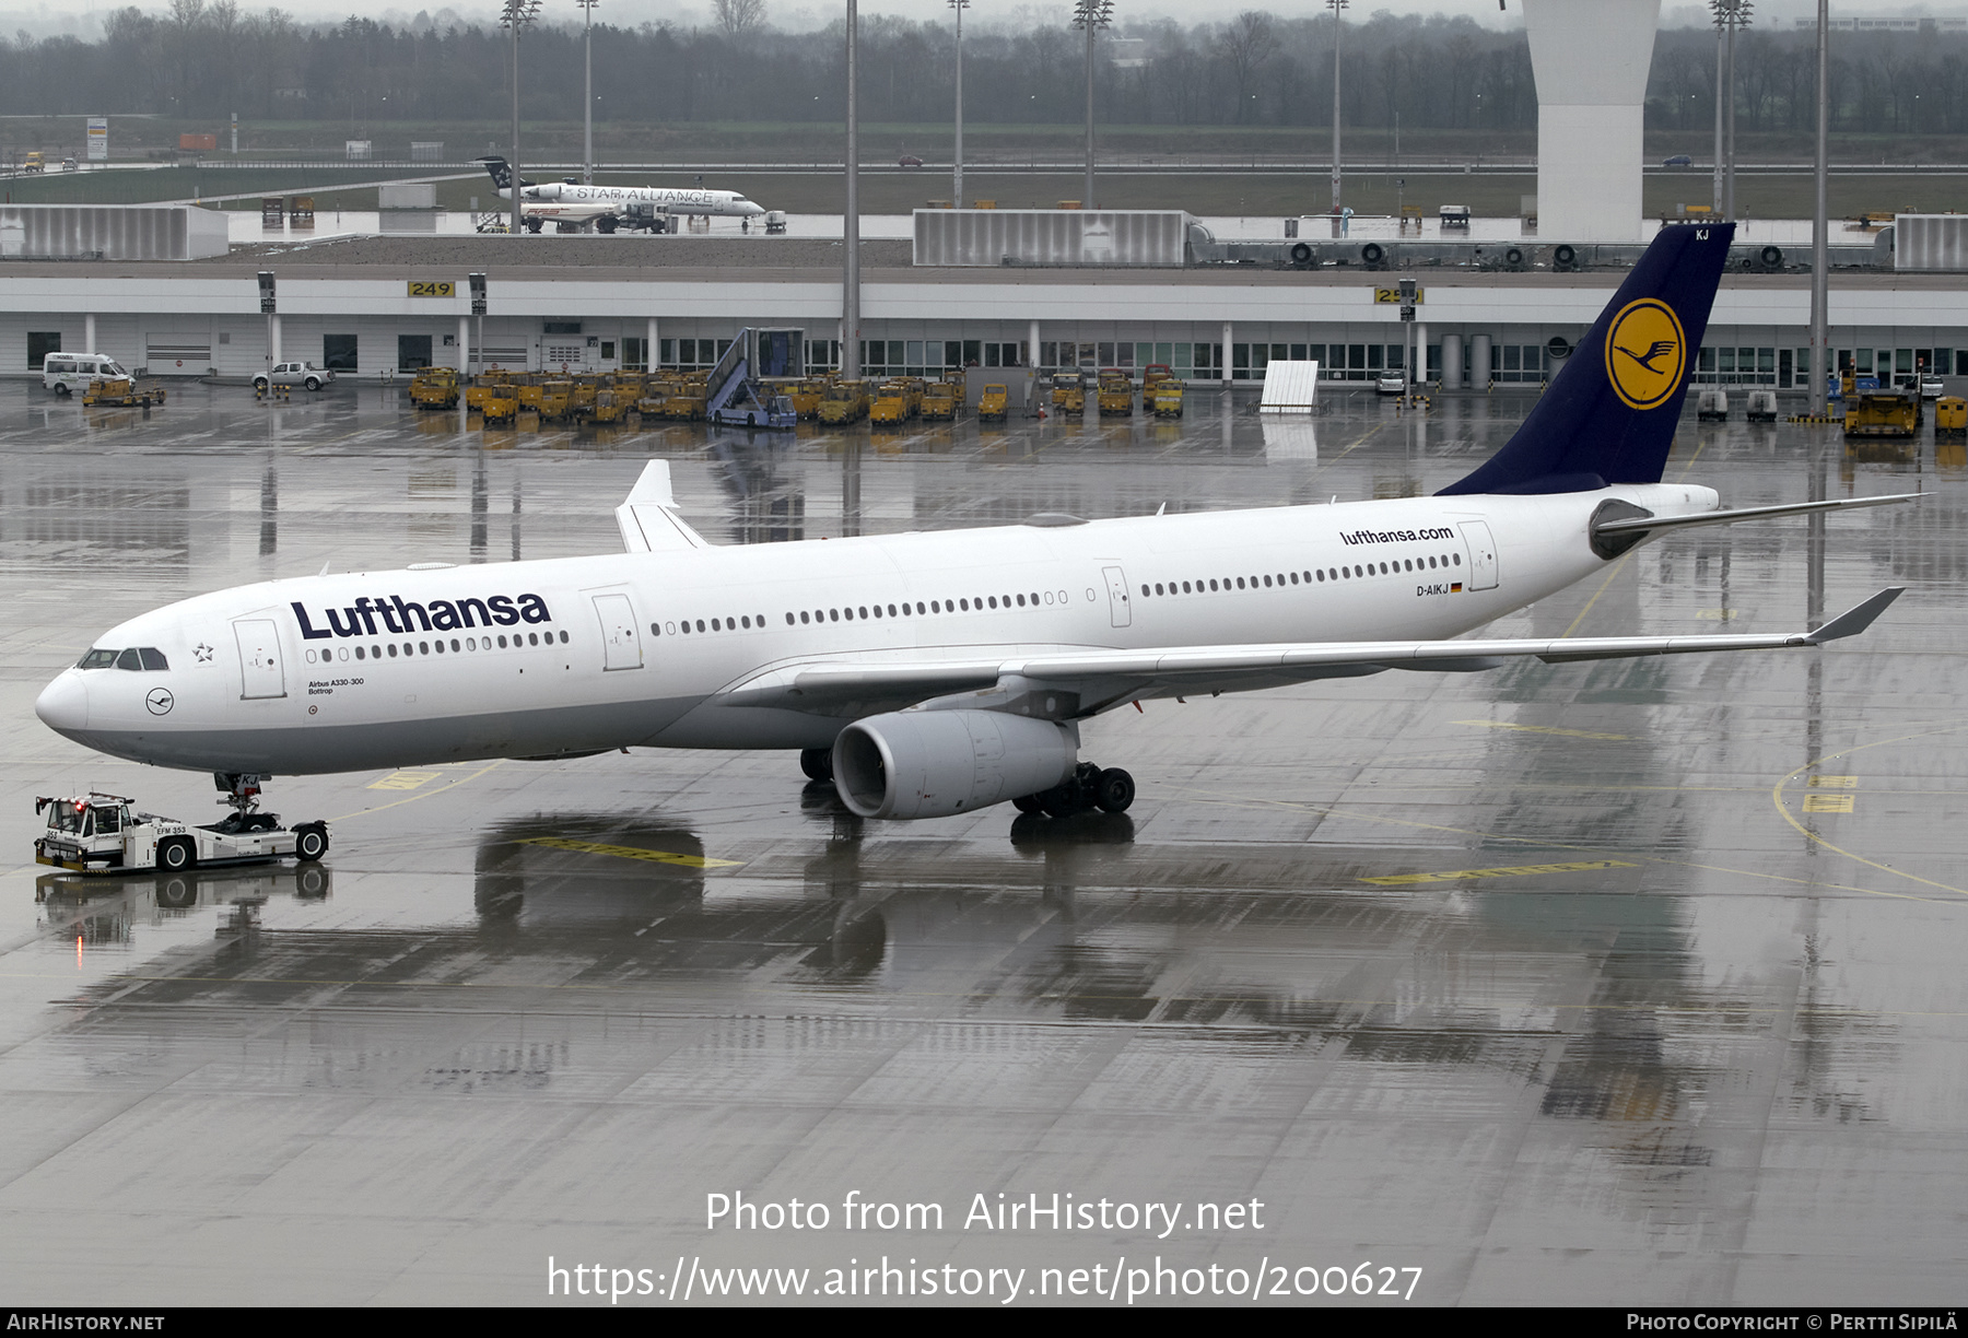
[[[16,262],[0,285],[0,372],[39,374],[41,358],[57,350],[106,352],[152,376],[238,380],[301,358],[364,380],[433,364],[707,368],[748,325],[805,329],[807,366],[840,364],[838,268],[490,264],[512,254],[512,242],[484,238],[486,264],[470,268],[281,256],[266,293],[260,268],[236,260]],[[472,315],[472,274],[484,274],[484,315]],[[1563,366],[1624,272],[1423,270],[1417,277],[1419,319],[1403,327],[1399,307],[1385,301],[1387,275],[1330,268],[872,268],[862,275],[862,370],[1139,374],[1159,362],[1191,384],[1234,388],[1260,382],[1273,358],[1368,382],[1421,348],[1417,380],[1443,390],[1535,388]],[[1840,364],[1862,374],[1968,376],[1960,287],[1946,274],[1834,272]],[[1803,390],[1809,297],[1809,274],[1726,275],[1694,382]]]

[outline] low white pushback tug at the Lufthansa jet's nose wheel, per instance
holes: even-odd
[[[218,775],[232,807],[222,822],[193,826],[142,813],[122,795],[57,795],[33,801],[47,828],[33,842],[35,864],[73,874],[165,870],[171,874],[215,864],[262,864],[293,856],[315,862],[329,852],[327,822],[281,826],[277,813],[256,813],[258,775]]]

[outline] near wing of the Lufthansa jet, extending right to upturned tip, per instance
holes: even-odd
[[[1813,632],[1744,636],[1513,638],[1445,641],[1309,641],[1279,645],[1185,645],[1132,651],[1039,651],[945,661],[819,661],[783,665],[720,695],[730,706],[775,706],[807,714],[860,716],[899,710],[951,693],[1071,695],[1059,714],[1090,716],[1147,697],[1238,693],[1311,679],[1417,669],[1472,673],[1506,659],[1551,665],[1578,659],[1698,655],[1824,645],[1858,636],[1905,586],[1879,590]],[[980,702],[982,704],[982,702]],[[1051,714],[1051,712],[1047,712]]]

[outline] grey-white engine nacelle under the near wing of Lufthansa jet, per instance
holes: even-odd
[[[1065,781],[1078,730],[996,710],[895,710],[834,740],[834,789],[864,819],[943,819]]]

